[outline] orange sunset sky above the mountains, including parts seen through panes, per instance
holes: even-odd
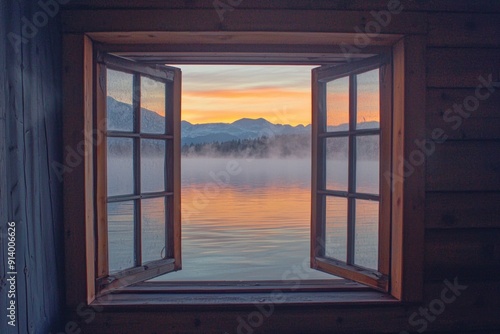
[[[231,123],[243,117],[275,124],[311,123],[311,69],[316,66],[176,65],[182,70],[182,119]],[[327,86],[327,124],[349,120],[349,79]],[[165,86],[143,80],[144,108],[165,114]],[[132,75],[108,71],[108,94],[132,102]],[[358,75],[358,122],[378,121],[378,70]]]

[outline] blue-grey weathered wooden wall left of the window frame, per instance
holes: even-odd
[[[59,19],[22,36],[36,1],[0,2],[0,333],[56,332],[63,314]],[[48,16],[47,16],[48,18]],[[40,17],[43,19],[43,17]],[[20,37],[19,37],[20,38]],[[6,317],[7,222],[16,224],[16,327]]]

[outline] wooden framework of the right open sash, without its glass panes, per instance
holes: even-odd
[[[379,69],[380,126],[378,129],[356,129],[356,75]],[[349,77],[349,129],[328,132],[326,126],[327,83]],[[311,215],[311,267],[389,291],[391,190],[383,175],[390,173],[392,163],[392,65],[387,55],[379,55],[340,66],[323,66],[312,73],[312,215]],[[356,138],[379,135],[379,194],[364,194],[356,190]],[[348,140],[348,189],[337,191],[326,189],[326,144],[327,138]],[[326,254],[326,198],[329,196],[347,199],[347,261],[327,257]],[[354,264],[355,245],[355,200],[378,201],[378,268],[372,270]]]

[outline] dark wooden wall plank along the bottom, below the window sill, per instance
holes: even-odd
[[[451,278],[453,280],[453,278]],[[462,283],[459,281],[459,283]],[[490,291],[498,291],[498,284],[483,284],[467,282],[467,289],[453,303],[446,304],[446,312],[442,312],[432,322],[427,322],[429,331],[439,333],[461,333],[464,327],[467,333],[489,333],[491,329],[500,326],[496,314],[500,304]],[[429,307],[435,299],[441,298],[441,292],[446,286],[437,282],[426,286],[425,302],[418,305],[344,305],[344,299],[338,296],[338,303],[323,303],[314,305],[289,305],[283,301],[271,303],[269,294],[259,297],[245,295],[229,295],[228,298],[250,302],[260,298],[260,302],[248,305],[198,305],[179,307],[141,305],[133,307],[115,306],[109,312],[95,306],[96,318],[88,325],[83,323],[84,332],[93,333],[134,333],[142,332],[192,332],[192,333],[400,333],[402,330],[415,332],[420,325],[409,321],[414,312],[419,313],[419,307]],[[322,293],[323,298],[328,298]],[[275,294],[274,296],[288,295]],[[286,296],[286,297],[285,297]],[[125,298],[125,296],[122,296]],[[131,296],[132,297],[132,296]],[[307,294],[302,298],[313,297]],[[449,294],[445,297],[449,298]],[[153,295],[153,299],[162,298]],[[166,297],[163,297],[166,299]],[[177,297],[176,297],[177,298]],[[188,297],[189,298],[189,297]],[[190,300],[193,301],[191,296]],[[210,299],[210,296],[207,296]],[[293,298],[293,297],[292,297]],[[296,298],[300,298],[297,296]],[[321,298],[321,299],[323,299]],[[348,298],[348,297],[347,297]],[[270,301],[271,299],[271,301]],[[201,297],[198,300],[203,303]],[[324,300],[324,299],[323,299]],[[115,304],[119,304],[117,300]],[[433,306],[435,306],[433,304]],[[127,312],[133,308],[135,312]],[[108,307],[109,309],[109,307]],[[423,316],[418,316],[422,319]],[[214,321],[217,319],[217,321]],[[293,319],[294,321],[290,321]],[[415,318],[414,318],[415,319]],[[462,319],[457,321],[457,319]],[[248,327],[247,327],[248,326]],[[247,328],[247,329],[245,329]],[[246,331],[245,331],[246,330]],[[493,332],[492,332],[493,333]]]

